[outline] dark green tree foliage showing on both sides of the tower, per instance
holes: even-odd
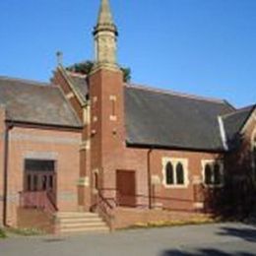
[[[87,60],[81,63],[75,63],[66,69],[68,71],[73,71],[76,73],[80,73],[83,75],[89,75],[92,69],[94,68],[94,62],[91,60]],[[123,72],[123,81],[130,82],[131,81],[131,69],[126,67],[120,67],[121,71]]]

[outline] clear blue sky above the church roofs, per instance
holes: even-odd
[[[48,81],[94,58],[99,0],[0,1],[0,75]],[[256,0],[111,0],[132,81],[235,106],[256,101]]]

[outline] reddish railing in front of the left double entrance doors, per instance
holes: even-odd
[[[58,211],[50,192],[47,191],[20,192],[20,206],[24,208],[41,209],[50,215]]]

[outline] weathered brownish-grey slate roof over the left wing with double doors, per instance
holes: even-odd
[[[8,120],[82,126],[60,89],[50,85],[0,77],[0,104],[7,109]]]

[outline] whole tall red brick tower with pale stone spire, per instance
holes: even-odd
[[[93,34],[96,57],[89,76],[91,171],[93,187],[97,183],[102,189],[115,187],[117,160],[122,160],[125,141],[123,73],[116,61],[118,32],[108,0],[101,0]]]

